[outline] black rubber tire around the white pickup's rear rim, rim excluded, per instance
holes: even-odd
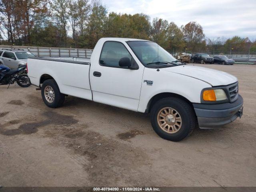
[[[46,100],[46,96],[44,96],[44,92],[46,92],[46,87],[48,86],[48,88],[52,88],[53,89],[53,93],[54,93],[54,98],[52,102],[49,102],[48,100]],[[42,88],[41,88],[41,95],[42,95],[42,99],[44,100],[44,103],[50,107],[50,108],[57,108],[62,106],[64,100],[65,100],[65,96],[64,94],[62,94],[60,92],[60,89],[58,87],[58,84],[56,83],[55,80],[53,79],[49,79],[49,80],[45,80],[42,84]]]

